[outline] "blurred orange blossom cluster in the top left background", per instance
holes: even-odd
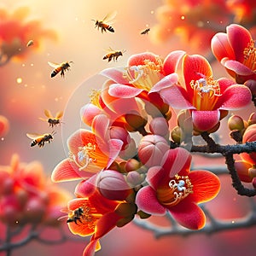
[[[27,20],[30,9],[20,7],[13,13],[0,9],[0,66],[10,59],[23,59],[29,52],[26,45],[33,41],[32,49],[39,49],[42,38],[56,39],[54,31],[44,29],[38,20]]]

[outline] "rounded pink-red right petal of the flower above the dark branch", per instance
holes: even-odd
[[[245,108],[252,101],[251,91],[245,85],[234,84],[224,91],[216,108],[236,110]]]

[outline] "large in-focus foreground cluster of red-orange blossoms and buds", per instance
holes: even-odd
[[[236,25],[229,30],[245,32]],[[248,38],[230,38],[212,39],[213,53],[226,68],[229,61],[241,63],[242,54],[247,58],[239,47],[246,48],[248,42],[241,40]],[[242,67],[249,68],[245,62]],[[206,216],[198,204],[218,195],[220,183],[212,172],[190,171],[187,138],[218,131],[229,110],[252,101],[247,82],[239,84],[247,74],[240,73],[241,65],[232,66],[238,81],[214,79],[206,58],[177,50],[164,60],[150,52],[131,55],[127,67],[102,71],[107,81],[80,111],[91,129],[68,138],[69,155],[52,173],[55,182],[80,179],[77,198],[67,205],[67,224],[73,234],[91,236],[84,255],[93,255],[102,236],[136,215],[150,218],[168,211],[187,229],[204,227]],[[176,126],[173,108],[180,109]],[[246,132],[244,139],[253,140]]]

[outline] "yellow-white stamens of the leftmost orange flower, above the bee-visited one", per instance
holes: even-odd
[[[71,159],[79,166],[79,171],[84,170],[91,162],[96,162],[96,145],[92,143],[87,143],[84,147],[79,147],[79,152],[77,156],[75,154],[70,155]]]

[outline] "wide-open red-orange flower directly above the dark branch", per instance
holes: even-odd
[[[251,102],[251,92],[246,86],[235,84],[230,79],[214,80],[212,67],[203,56],[183,52],[180,55],[183,55],[184,84],[166,84],[164,87],[158,84],[152,91],[159,92],[172,108],[190,109],[195,131],[214,130],[227,114],[224,110],[244,108]],[[168,66],[176,67],[177,63],[166,61]]]

